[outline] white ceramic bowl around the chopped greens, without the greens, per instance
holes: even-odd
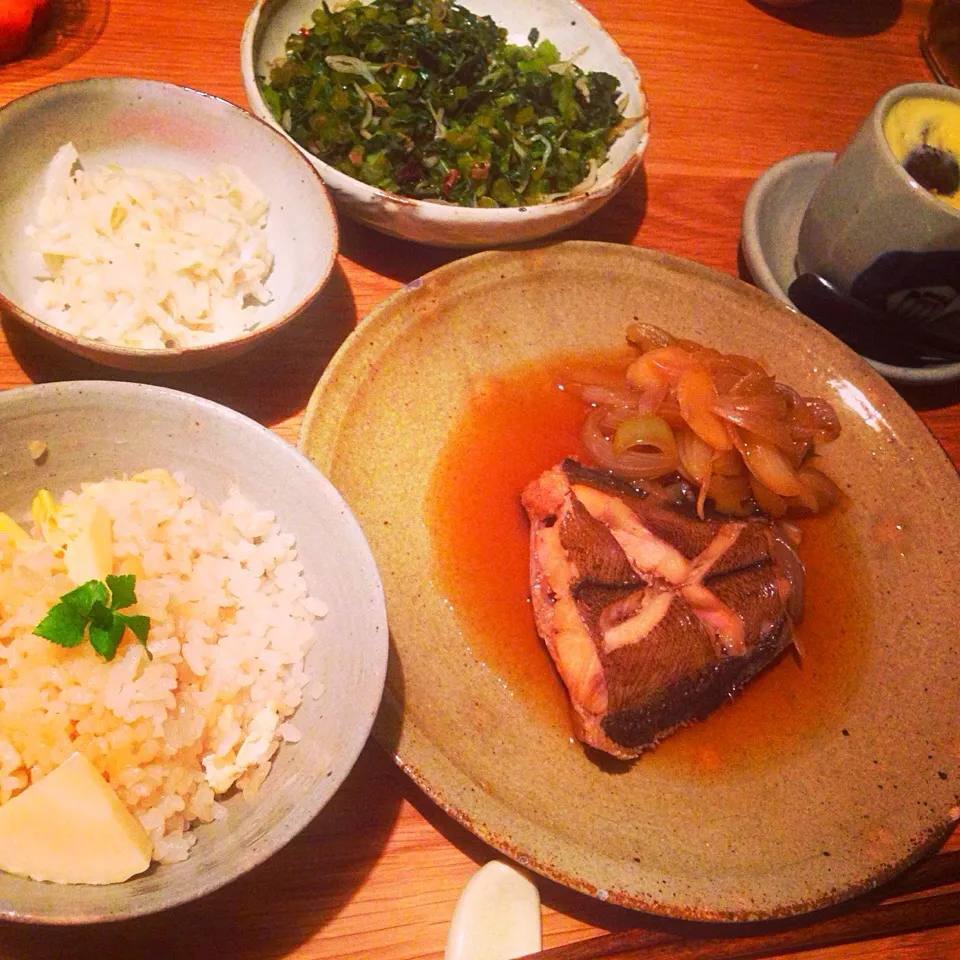
[[[319,0],[258,0],[244,26],[240,65],[247,102],[258,117],[281,132],[282,127],[260,94],[257,78],[265,76],[270,65],[283,58],[287,37],[309,24],[318,6]],[[474,13],[492,16],[509,31],[514,43],[526,43],[530,29],[537,27],[541,37],[557,45],[561,56],[577,54],[576,63],[583,69],[603,70],[619,79],[621,91],[628,95],[624,116],[644,116],[644,120],[611,146],[593,186],[552,203],[484,210],[387,193],[306,155],[344,213],[406,240],[447,247],[495,247],[534,240],[578,223],[630,179],[646,149],[646,98],[636,68],[597,19],[575,0],[471,0],[465,6]]]

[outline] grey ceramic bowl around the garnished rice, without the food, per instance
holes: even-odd
[[[81,481],[149,467],[182,470],[206,498],[237,488],[276,513],[296,537],[311,593],[329,604],[307,664],[324,685],[294,715],[303,733],[284,745],[255,800],[226,801],[228,816],[195,829],[183,863],[154,864],[106,887],[58,886],[0,872],[0,917],[92,923],[193,900],[282,847],[323,808],[353,766],[380,702],[387,633],[369,547],[330,483],[293,447],[218,404],[123,382],[51,383],[0,392],[4,476],[0,500],[19,517],[39,487],[54,495]],[[41,464],[27,444],[41,439]]]

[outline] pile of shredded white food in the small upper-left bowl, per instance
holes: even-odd
[[[236,167],[191,179],[176,170],[85,169],[73,144],[46,173],[26,233],[43,257],[40,319],[120,346],[187,347],[256,326],[268,202]]]

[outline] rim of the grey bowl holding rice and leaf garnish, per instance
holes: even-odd
[[[287,817],[277,821],[273,826],[270,833],[270,842],[259,845],[256,855],[242,863],[240,869],[235,872],[225,872],[224,874],[214,873],[200,876],[189,895],[176,897],[167,902],[162,901],[162,893],[143,895],[129,904],[128,909],[124,912],[117,914],[100,913],[91,915],[87,913],[71,913],[64,910],[57,915],[40,915],[36,912],[16,911],[15,909],[11,909],[12,904],[0,900],[0,920],[23,924],[84,926],[95,923],[113,923],[148,916],[200,900],[262,865],[306,829],[310,822],[332,800],[349,777],[351,771],[356,766],[360,754],[370,740],[370,733],[380,708],[380,701],[383,697],[383,689],[386,684],[389,656],[388,622],[383,579],[380,575],[376,558],[370,549],[366,534],[355,514],[350,509],[349,504],[347,504],[343,495],[334,486],[333,482],[309,457],[273,430],[265,427],[252,417],[238,410],[234,410],[232,407],[218,403],[215,400],[207,399],[206,397],[196,396],[183,390],[138,381],[65,380],[26,384],[19,387],[11,387],[7,390],[0,390],[0,419],[10,416],[11,410],[15,410],[24,400],[29,400],[30,398],[37,398],[40,403],[69,410],[75,405],[75,398],[82,393],[92,393],[95,399],[104,396],[108,399],[123,396],[128,398],[141,398],[145,402],[173,406],[179,409],[189,408],[191,410],[203,410],[218,420],[226,421],[233,426],[238,426],[240,429],[247,431],[249,434],[258,436],[261,442],[273,448],[278,457],[283,458],[289,464],[298,465],[300,469],[297,473],[299,475],[310,478],[308,482],[318,483],[321,488],[326,489],[328,495],[330,495],[332,500],[337,502],[341,508],[338,516],[354,528],[354,532],[358,537],[357,543],[361,546],[363,563],[369,574],[369,586],[372,588],[370,599],[373,601],[371,618],[375,621],[376,629],[366,638],[366,645],[373,653],[369,665],[369,677],[370,690],[375,691],[375,695],[371,693],[370,700],[365,704],[364,710],[361,713],[360,721],[354,724],[352,736],[346,741],[346,749],[343,753],[339,754],[337,768],[342,771],[342,775],[335,784],[330,796],[319,804],[306,802],[306,799],[298,803]],[[201,495],[207,496],[201,488],[198,488],[198,491]],[[267,503],[258,504],[258,506],[262,506],[264,509],[270,509],[270,505]],[[299,709],[298,707],[298,711]],[[293,716],[296,717],[296,715],[297,714],[294,713]],[[333,768],[331,767],[331,769]],[[307,797],[309,797],[309,793],[305,794],[305,798]],[[317,799],[320,798],[318,797]],[[198,826],[201,825],[198,824]],[[189,860],[186,862],[189,862]],[[180,866],[180,864],[153,863],[152,869],[160,869],[165,866],[177,867]],[[29,883],[39,882],[31,881],[29,878],[19,879]],[[136,878],[131,878],[131,881],[135,879]],[[124,885],[124,883],[121,883],[111,886],[122,888]],[[60,887],[60,889],[64,892],[65,899],[69,900],[70,891],[76,888],[72,885],[64,885]],[[109,887],[100,887],[97,889],[105,890],[109,889]]]

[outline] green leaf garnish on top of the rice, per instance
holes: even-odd
[[[112,660],[124,629],[129,627],[152,660],[147,648],[150,618],[119,612],[137,602],[135,583],[136,577],[132,573],[116,577],[108,574],[106,583],[88,580],[65,593],[33,632],[61,647],[76,647],[83,643],[86,635],[90,645],[104,660]]]

